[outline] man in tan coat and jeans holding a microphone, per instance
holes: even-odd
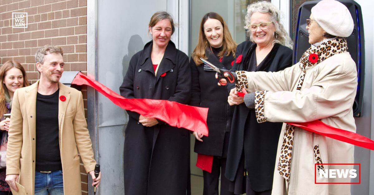
[[[61,47],[45,45],[35,54],[40,79],[14,93],[9,127],[6,182],[29,195],[80,195],[79,155],[95,179],[82,92],[59,82],[64,72]]]

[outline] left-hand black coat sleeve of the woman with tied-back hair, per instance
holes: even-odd
[[[135,54],[136,55],[136,54]],[[134,75],[135,67],[137,65],[137,57],[132,56],[129,68],[127,69],[125,78],[123,78],[122,85],[119,87],[120,95],[125,98],[135,98],[134,97]],[[140,114],[134,111],[126,110],[129,116],[135,120],[139,120]]]

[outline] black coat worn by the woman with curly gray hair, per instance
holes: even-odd
[[[253,44],[251,41],[245,41],[237,46],[236,57],[242,55],[242,60],[234,63],[233,72],[243,70],[246,55]],[[264,64],[261,71],[277,72],[290,66],[292,66],[292,50],[279,45],[272,62],[269,65]],[[227,84],[228,90],[234,87],[234,84]],[[258,192],[272,189],[282,123],[257,123],[254,109],[249,109],[244,103],[234,107],[225,176],[233,181],[237,174],[243,174],[238,173],[237,170],[244,154],[245,167],[252,189]]]

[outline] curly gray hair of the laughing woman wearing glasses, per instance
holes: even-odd
[[[248,5],[247,7],[244,28],[247,30],[247,35],[249,36],[250,40],[254,42],[251,31],[249,30],[249,25],[251,24],[251,17],[255,12],[269,13],[270,21],[272,21],[275,26],[276,38],[273,41],[273,44],[279,43],[292,49],[293,42],[280,22],[281,11],[279,11],[272,3],[268,1],[258,1]]]

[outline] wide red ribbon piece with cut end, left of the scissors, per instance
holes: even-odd
[[[117,106],[143,116],[160,119],[170,126],[186,128],[208,136],[208,108],[187,106],[175,101],[124,98],[105,85],[79,72],[71,84],[88,85],[109,98]]]

